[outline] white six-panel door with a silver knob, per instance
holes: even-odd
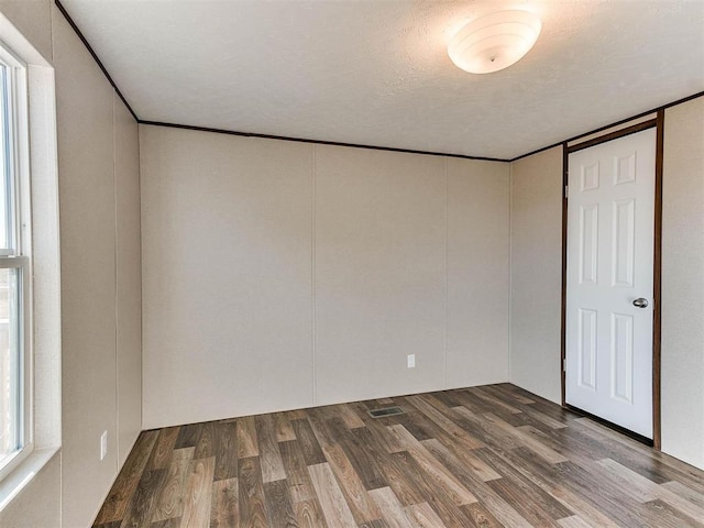
[[[565,402],[652,438],[656,129],[569,155]]]

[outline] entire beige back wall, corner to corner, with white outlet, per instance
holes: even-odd
[[[140,139],[144,427],[506,381],[506,164]]]

